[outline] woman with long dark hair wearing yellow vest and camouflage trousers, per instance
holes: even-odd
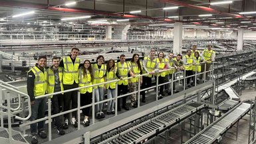
[[[142,63],[139,60],[139,54],[134,54],[132,56],[132,60],[129,62],[130,69],[134,76],[138,76],[142,74]],[[131,78],[129,80],[129,90],[130,92],[134,92],[138,90],[138,80],[139,77],[136,78]],[[140,86],[142,84],[142,76],[140,76]],[[138,102],[137,102],[137,93],[131,95],[131,105],[133,108],[138,107]]]

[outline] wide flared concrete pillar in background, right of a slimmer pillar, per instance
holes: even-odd
[[[114,27],[114,38],[126,40],[127,31],[129,29],[129,27],[130,27],[130,25],[118,25],[118,26]]]

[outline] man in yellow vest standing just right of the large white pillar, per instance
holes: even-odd
[[[193,75],[193,66],[192,66],[192,64],[195,64],[195,60],[193,59],[193,56],[192,56],[191,53],[192,53],[191,50],[187,50],[187,54],[183,58],[184,67],[185,67],[185,70],[186,70],[186,76],[192,76]],[[190,84],[191,79],[193,81],[193,77],[186,78],[188,87],[192,87],[192,85]]]

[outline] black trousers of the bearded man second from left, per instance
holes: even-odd
[[[53,115],[60,113],[61,106],[63,104],[63,98],[64,98],[63,94],[58,94],[58,95],[53,96],[53,98],[51,98],[51,101],[53,104]],[[61,121],[61,116],[55,117],[55,125],[58,128],[63,126],[63,123]]]

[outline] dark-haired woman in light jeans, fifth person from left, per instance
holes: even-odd
[[[106,74],[106,65],[104,63],[104,56],[99,55],[96,58],[96,64],[92,64],[92,72],[94,73],[94,79],[92,84],[100,84],[105,82],[104,76]],[[100,102],[104,100],[104,84],[100,84],[98,86],[94,86],[95,90],[95,102]],[[104,113],[102,112],[103,104],[96,105],[96,118],[102,119],[105,117]]]

